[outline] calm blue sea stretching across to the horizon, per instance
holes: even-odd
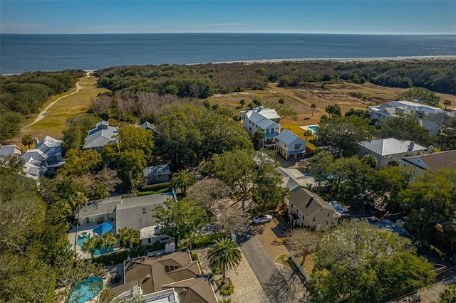
[[[0,73],[293,58],[456,55],[456,35],[291,33],[0,35]]]

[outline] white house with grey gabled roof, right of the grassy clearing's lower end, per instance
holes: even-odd
[[[118,127],[109,126],[108,121],[100,121],[94,129],[88,131],[83,149],[95,149],[100,152],[108,143],[119,142]]]

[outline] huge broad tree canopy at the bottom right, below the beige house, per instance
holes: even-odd
[[[400,297],[433,281],[432,264],[406,238],[363,221],[338,225],[318,242],[312,302],[372,302]]]

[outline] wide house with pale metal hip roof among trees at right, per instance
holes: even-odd
[[[406,156],[422,155],[427,147],[416,144],[413,141],[400,141],[395,138],[376,139],[358,143],[359,156],[362,158],[367,154],[377,159],[376,169],[384,169],[393,163],[400,163],[400,159]]]

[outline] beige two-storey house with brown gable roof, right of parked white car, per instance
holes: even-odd
[[[337,223],[340,217],[336,211],[316,193],[306,188],[284,198],[288,205],[289,225],[324,230]]]

